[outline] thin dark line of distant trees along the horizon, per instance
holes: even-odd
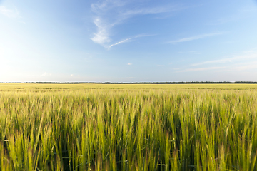
[[[22,82],[0,82],[0,83],[22,83]],[[24,83],[36,83],[36,84],[257,84],[255,81],[181,81],[181,82],[24,82]]]

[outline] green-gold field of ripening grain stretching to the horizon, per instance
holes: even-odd
[[[0,84],[0,170],[257,170],[257,85]]]

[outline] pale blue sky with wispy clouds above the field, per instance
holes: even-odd
[[[14,81],[257,81],[257,1],[0,0]]]

